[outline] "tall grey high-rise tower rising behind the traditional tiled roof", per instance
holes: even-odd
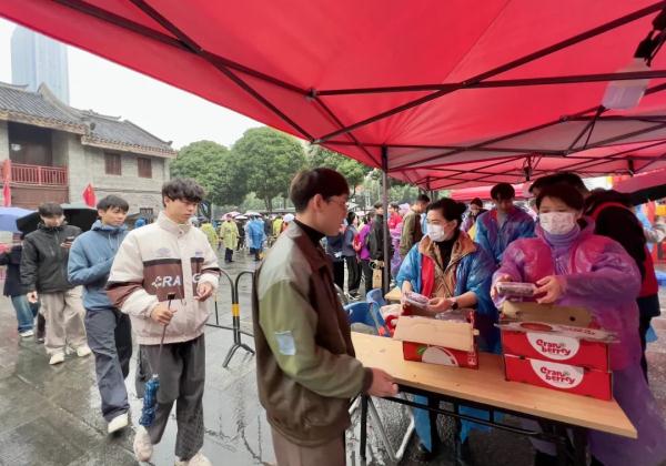
[[[17,26],[11,36],[11,81],[37,91],[44,82],[69,104],[67,47],[46,36]]]

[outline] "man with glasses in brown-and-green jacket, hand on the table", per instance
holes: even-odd
[[[343,466],[350,399],[397,393],[389,374],[354,357],[346,313],[320,245],[337,233],[349,194],[344,176],[333,170],[299,173],[290,189],[296,219],[254,277],[259,396],[279,466]]]

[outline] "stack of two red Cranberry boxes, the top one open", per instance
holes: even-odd
[[[502,313],[507,381],[612,398],[608,344],[614,335],[589,328],[587,310],[507,301]]]

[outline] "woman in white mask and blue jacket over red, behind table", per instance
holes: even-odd
[[[481,351],[498,352],[497,310],[490,297],[494,259],[461,231],[466,206],[451,199],[441,199],[427,206],[426,235],[415,244],[400,267],[396,282],[403,295],[414,291],[430,300],[425,310],[410,307],[412,314],[434,316],[450,310],[475,310],[475,326],[480,331]],[[421,403],[425,398],[420,399]],[[474,413],[483,416],[484,413]],[[437,449],[436,428],[427,412],[414,411],[421,459],[430,459]],[[470,425],[464,423],[462,440],[466,440]],[[466,445],[466,444],[463,444]]]

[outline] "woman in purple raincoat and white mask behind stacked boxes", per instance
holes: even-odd
[[[536,283],[537,302],[587,308],[596,323],[616,332],[610,345],[613,395],[627,414],[638,439],[589,430],[597,463],[657,465],[666,459],[666,428],[640,369],[638,307],[640,273],[624,247],[594,234],[594,222],[583,217],[583,196],[568,184],[544,188],[536,199],[537,237],[512,243],[494,275],[498,282]],[[501,297],[493,285],[493,297]],[[535,464],[551,464],[554,445],[537,443]]]

